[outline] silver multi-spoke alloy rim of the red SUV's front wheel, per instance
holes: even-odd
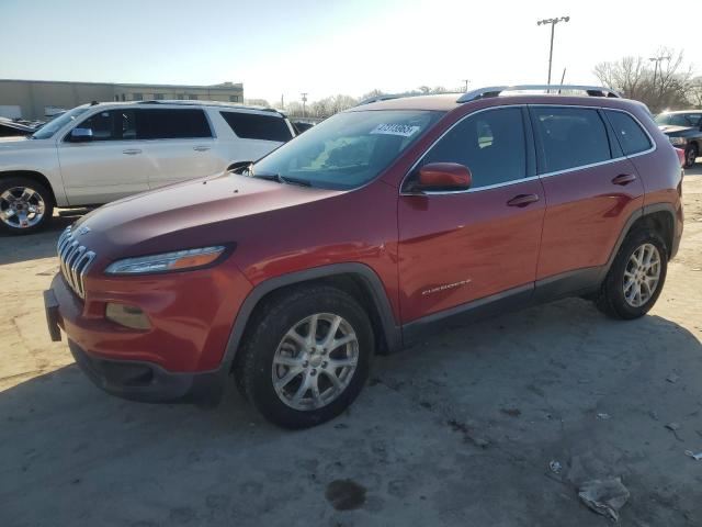
[[[339,315],[317,313],[283,336],[273,356],[273,388],[287,406],[317,410],[343,393],[358,361],[359,340],[351,324]]]

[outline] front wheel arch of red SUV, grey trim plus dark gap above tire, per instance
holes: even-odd
[[[395,321],[383,282],[375,271],[359,262],[332,264],[271,278],[256,285],[237,313],[223,365],[234,365],[247,329],[251,323],[256,323],[257,310],[267,300],[290,288],[313,283],[337,287],[352,294],[367,310],[377,340],[376,349],[393,352],[401,348],[401,329]]]

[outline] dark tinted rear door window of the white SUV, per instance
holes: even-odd
[[[212,137],[205,113],[194,109],[138,110],[136,127],[140,139]]]

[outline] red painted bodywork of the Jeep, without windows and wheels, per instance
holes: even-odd
[[[454,123],[505,105],[585,105],[630,112],[656,143],[654,152],[566,176],[532,178],[454,195],[407,195],[403,180]],[[397,99],[351,111],[445,112],[377,178],[350,191],[301,188],[235,173],[204,178],[105,205],[76,227],[98,255],[84,302],[57,276],[59,325],[88,356],[157,365],[169,373],[228,366],[241,306],[257,288],[296,272],[361,264],[382,284],[388,319],[403,334],[412,323],[516,288],[534,287],[584,268],[605,266],[634,213],[675,211],[682,229],[680,165],[643,106],[605,98],[517,96],[456,103],[455,96]],[[296,141],[296,139],[294,139]],[[613,179],[633,176],[626,184]],[[535,197],[520,206],[514,199]],[[109,277],[126,257],[227,245],[230,256],[200,270]],[[107,302],[140,307],[151,329],[105,318]],[[244,321],[246,324],[248,321]],[[395,347],[395,345],[388,347]],[[236,351],[236,350],[235,350]]]

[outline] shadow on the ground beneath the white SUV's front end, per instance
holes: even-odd
[[[0,234],[0,266],[56,256],[56,242],[61,231],[86,214],[84,209],[54,213],[48,226],[29,235]]]

